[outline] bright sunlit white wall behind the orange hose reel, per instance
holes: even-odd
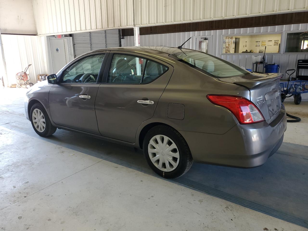
[[[37,83],[37,75],[47,74],[44,38],[31,35],[2,34],[8,84],[16,83],[16,73],[32,64],[27,74]]]

